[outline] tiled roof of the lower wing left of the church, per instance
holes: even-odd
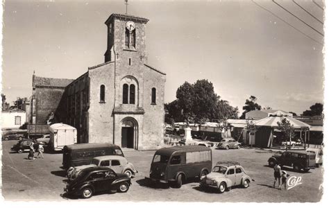
[[[45,78],[33,75],[33,87],[66,87],[73,81],[71,79]]]

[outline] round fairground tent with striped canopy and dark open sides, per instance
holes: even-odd
[[[278,130],[278,122],[281,123],[283,119],[287,119],[287,121],[294,126],[295,131],[300,132],[301,137],[302,132],[305,132],[305,137],[301,138],[303,139],[304,144],[306,144],[307,139],[310,141],[310,125],[289,116],[273,115],[260,119],[259,121],[255,121],[255,125],[258,128],[255,135],[255,145],[271,148],[274,131]]]

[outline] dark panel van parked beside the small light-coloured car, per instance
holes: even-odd
[[[154,154],[150,180],[174,184],[180,188],[187,178],[207,175],[212,169],[212,152],[205,146],[173,146]]]

